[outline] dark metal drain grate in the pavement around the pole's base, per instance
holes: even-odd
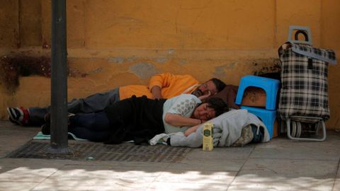
[[[93,161],[180,162],[191,148],[166,145],[98,144],[69,142],[69,154],[49,154],[50,142],[29,141],[6,158],[45,158]]]

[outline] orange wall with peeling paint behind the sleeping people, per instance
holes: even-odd
[[[49,55],[50,1],[0,4],[1,57]],[[336,0],[67,1],[69,100],[147,84],[158,72],[237,85],[246,74],[277,71],[277,49],[289,25],[310,26],[314,46],[339,55],[339,8]],[[339,71],[339,65],[329,66],[329,129],[340,129]],[[50,79],[26,76],[19,82],[15,91],[0,84],[1,119],[7,106],[50,102]]]

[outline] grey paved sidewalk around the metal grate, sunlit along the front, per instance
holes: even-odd
[[[178,163],[5,158],[38,131],[0,122],[0,190],[340,190],[334,131],[324,142],[191,149]]]

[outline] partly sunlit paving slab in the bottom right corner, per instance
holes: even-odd
[[[337,161],[250,158],[228,190],[332,190]]]

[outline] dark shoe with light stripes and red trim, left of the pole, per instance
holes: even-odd
[[[26,108],[7,108],[8,120],[16,125],[27,125],[30,115]]]

